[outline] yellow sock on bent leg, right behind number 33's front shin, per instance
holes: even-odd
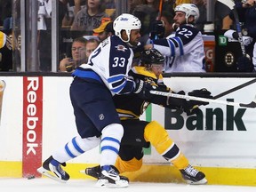
[[[142,157],[140,159],[136,159],[135,157],[129,161],[124,161],[120,158],[120,156],[116,159],[116,168],[120,173],[122,172],[135,172],[140,170],[142,166]]]

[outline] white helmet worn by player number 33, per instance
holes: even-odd
[[[122,41],[127,43],[127,42],[130,41],[131,30],[132,29],[140,29],[141,28],[141,22],[137,17],[133,16],[132,14],[123,13],[120,16],[118,16],[116,18],[116,20],[114,20],[113,28],[115,30],[115,35],[119,36],[119,38],[121,38],[121,39],[122,39],[121,31],[122,30],[126,31],[126,34],[128,36],[128,40],[124,41],[124,39],[122,39]]]

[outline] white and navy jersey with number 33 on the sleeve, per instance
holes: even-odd
[[[129,93],[134,86],[133,80],[128,78],[132,58],[133,52],[128,44],[118,36],[109,36],[92,52],[88,63],[76,68],[72,76],[94,78],[88,76],[88,71],[93,71],[113,95]]]

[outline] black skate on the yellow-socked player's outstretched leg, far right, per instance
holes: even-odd
[[[188,184],[202,185],[207,183],[204,172],[197,171],[190,164],[188,164],[188,166],[185,169],[180,170],[180,172],[183,179],[186,180]]]

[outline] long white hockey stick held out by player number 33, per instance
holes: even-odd
[[[244,103],[237,103],[237,102],[231,102],[231,101],[226,101],[226,100],[213,100],[213,99],[208,99],[208,98],[200,98],[200,97],[194,97],[194,96],[189,96],[189,95],[181,95],[181,94],[176,94],[172,92],[158,92],[158,91],[150,91],[150,93],[155,94],[155,95],[162,95],[166,97],[173,97],[173,98],[179,98],[179,99],[184,99],[184,100],[198,100],[198,101],[203,101],[203,102],[212,102],[212,103],[219,103],[219,104],[224,104],[224,105],[229,105],[229,106],[238,106],[242,108],[256,108],[256,97],[254,100],[252,100],[251,103],[249,104],[244,104]]]

